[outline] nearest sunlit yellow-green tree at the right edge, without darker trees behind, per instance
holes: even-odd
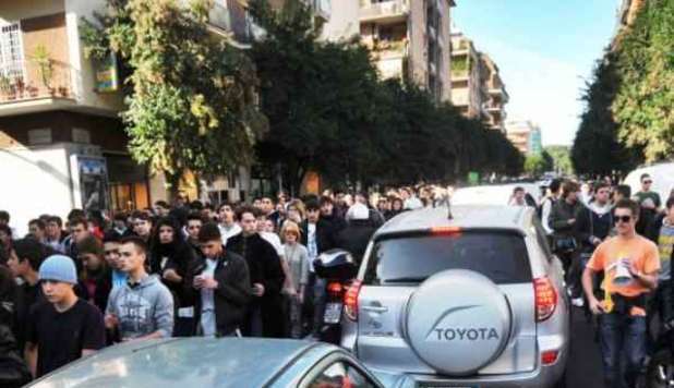
[[[648,1],[618,46],[621,83],[612,108],[619,140],[642,148],[649,162],[674,151],[673,53],[674,2]]]

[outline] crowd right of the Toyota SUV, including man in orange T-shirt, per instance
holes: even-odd
[[[666,332],[674,319],[674,192],[662,202],[652,178],[640,180],[636,193],[610,180],[553,180],[540,201],[526,198],[521,187],[511,199],[538,207],[571,303],[598,317],[606,387],[635,387],[653,350],[651,320]]]

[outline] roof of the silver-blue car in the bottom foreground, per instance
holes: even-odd
[[[173,338],[108,348],[35,387],[262,387],[309,350],[330,345],[260,338]]]

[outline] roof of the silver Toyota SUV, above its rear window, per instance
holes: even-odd
[[[452,213],[452,219],[448,215]],[[426,207],[405,211],[388,222],[375,238],[385,234],[424,231],[436,227],[458,227],[464,229],[503,229],[525,233],[533,208],[525,206],[461,205]]]

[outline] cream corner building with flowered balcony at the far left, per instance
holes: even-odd
[[[82,19],[105,3],[0,2],[0,209],[20,232],[40,214],[145,208],[167,198],[163,178],[127,150],[116,59],[84,57]],[[253,28],[239,5],[218,1],[208,26],[245,45]]]

